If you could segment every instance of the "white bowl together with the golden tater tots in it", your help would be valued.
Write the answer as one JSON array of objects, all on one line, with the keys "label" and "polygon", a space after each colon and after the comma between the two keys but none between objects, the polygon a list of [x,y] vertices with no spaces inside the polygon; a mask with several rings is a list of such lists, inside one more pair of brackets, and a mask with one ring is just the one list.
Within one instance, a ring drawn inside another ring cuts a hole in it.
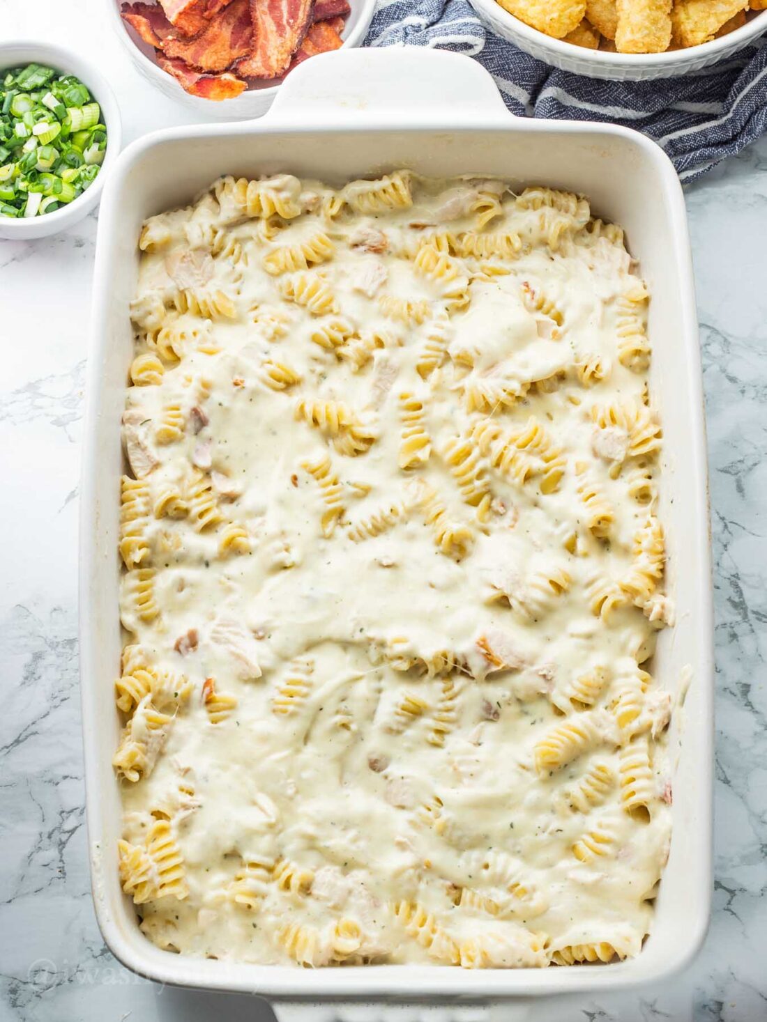
[{"label": "white bowl together with the golden tater tots in it", "polygon": [[672,78],[767,32],[767,0],[469,0],[526,53],[590,78]]}]

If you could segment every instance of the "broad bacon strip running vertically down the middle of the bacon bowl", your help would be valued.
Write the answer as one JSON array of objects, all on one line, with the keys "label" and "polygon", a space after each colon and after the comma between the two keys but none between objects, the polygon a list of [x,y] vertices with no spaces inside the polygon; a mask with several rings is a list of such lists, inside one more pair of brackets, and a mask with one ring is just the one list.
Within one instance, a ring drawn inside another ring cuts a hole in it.
[{"label": "broad bacon strip running vertically down the middle of the bacon bowl", "polygon": [[254,47],[237,64],[244,78],[278,78],[312,21],[314,0],[251,0]]}]

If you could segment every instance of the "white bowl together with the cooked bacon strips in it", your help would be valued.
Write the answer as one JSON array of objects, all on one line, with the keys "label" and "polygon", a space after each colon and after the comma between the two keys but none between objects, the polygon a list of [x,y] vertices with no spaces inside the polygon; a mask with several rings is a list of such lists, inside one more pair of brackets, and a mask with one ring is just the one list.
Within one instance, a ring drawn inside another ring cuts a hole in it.
[{"label": "white bowl together with the cooked bacon strips in it", "polygon": [[359,46],[375,0],[107,0],[137,69],[200,117],[258,118],[286,74]]}]

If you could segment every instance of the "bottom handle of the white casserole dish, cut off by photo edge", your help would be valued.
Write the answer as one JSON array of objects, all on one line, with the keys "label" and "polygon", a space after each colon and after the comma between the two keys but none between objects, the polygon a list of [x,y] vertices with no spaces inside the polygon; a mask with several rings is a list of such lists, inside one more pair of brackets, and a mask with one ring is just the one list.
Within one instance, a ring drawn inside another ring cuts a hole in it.
[{"label": "bottom handle of the white casserole dish, cut off by photo edge", "polygon": [[271,1001],[277,1022],[526,1022],[526,998],[483,1004],[360,1004],[352,1002]]}]

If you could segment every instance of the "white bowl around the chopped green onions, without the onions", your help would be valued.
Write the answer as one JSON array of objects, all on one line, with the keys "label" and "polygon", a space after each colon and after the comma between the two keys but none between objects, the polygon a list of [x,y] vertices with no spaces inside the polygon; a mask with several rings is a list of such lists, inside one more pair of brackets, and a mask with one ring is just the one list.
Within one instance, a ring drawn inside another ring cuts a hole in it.
[{"label": "white bowl around the chopped green onions, without the onions", "polygon": [[53,213],[44,213],[41,217],[30,217],[28,220],[24,217],[16,220],[0,216],[0,238],[17,241],[57,234],[86,217],[98,203],[104,179],[120,153],[120,107],[103,75],[77,53],[62,46],[32,42],[0,43],[0,74],[4,74],[8,67],[24,66],[33,61],[46,67],[54,67],[62,75],[76,75],[88,88],[101,108],[101,121],[106,126],[106,151],[101,170],[93,183],[72,202]]}]

